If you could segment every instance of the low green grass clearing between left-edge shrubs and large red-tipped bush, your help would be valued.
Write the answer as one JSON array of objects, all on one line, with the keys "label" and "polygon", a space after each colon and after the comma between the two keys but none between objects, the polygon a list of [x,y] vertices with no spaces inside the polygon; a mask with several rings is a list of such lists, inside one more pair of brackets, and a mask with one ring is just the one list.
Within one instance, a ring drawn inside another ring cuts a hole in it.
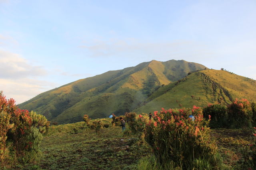
[{"label": "low green grass clearing between left-edge shrubs and large red-tipped bush", "polygon": [[[104,119],[103,124],[110,121]],[[51,126],[42,141],[41,161],[22,169],[133,170],[151,152],[134,136],[123,136],[121,127],[102,128],[98,136],[83,126],[83,122]]]}]

